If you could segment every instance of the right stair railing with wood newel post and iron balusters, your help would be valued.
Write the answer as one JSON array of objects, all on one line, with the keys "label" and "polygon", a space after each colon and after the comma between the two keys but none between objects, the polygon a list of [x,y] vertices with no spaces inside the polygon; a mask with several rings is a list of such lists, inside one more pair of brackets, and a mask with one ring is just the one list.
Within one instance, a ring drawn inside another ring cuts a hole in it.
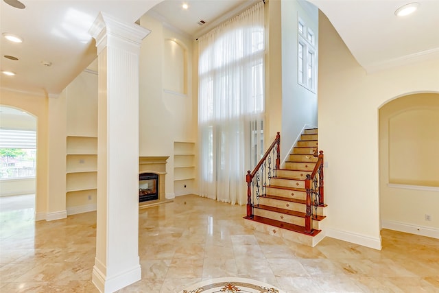
[{"label": "right stair railing with wood newel post and iron balusters", "polygon": [[[314,166],[311,175],[307,174],[305,179],[305,189],[307,189],[306,199],[306,215],[305,215],[305,233],[312,234],[312,218],[317,216],[318,207],[324,207],[324,182],[323,182],[323,151],[321,150],[318,155],[318,161]],[[313,213],[311,204],[314,207]]]}]

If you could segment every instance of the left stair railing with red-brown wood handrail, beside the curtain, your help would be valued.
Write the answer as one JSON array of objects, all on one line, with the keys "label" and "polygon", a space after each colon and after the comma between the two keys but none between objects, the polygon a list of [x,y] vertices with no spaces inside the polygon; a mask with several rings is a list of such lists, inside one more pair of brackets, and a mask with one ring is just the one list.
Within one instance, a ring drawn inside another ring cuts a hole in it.
[{"label": "left stair railing with red-brown wood handrail, beside the curtain", "polygon": [[[274,165],[272,156],[276,157]],[[276,172],[281,165],[281,134],[277,132],[276,138],[265,152],[262,159],[254,167],[253,171],[247,171],[247,215],[246,218],[253,218],[253,201],[252,194],[256,195],[259,204],[259,196],[265,195],[265,186],[270,186],[270,180],[276,176]],[[268,180],[268,183],[267,183]]]}]

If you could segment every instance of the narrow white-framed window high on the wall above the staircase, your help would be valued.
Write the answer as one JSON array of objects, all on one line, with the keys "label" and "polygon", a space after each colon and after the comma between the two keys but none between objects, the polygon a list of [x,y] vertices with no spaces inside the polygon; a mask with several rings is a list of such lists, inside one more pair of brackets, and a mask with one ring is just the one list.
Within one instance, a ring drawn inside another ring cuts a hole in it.
[{"label": "narrow white-framed window high on the wall above the staircase", "polygon": [[316,91],[316,40],[314,32],[302,19],[297,26],[298,35],[298,84]]}]

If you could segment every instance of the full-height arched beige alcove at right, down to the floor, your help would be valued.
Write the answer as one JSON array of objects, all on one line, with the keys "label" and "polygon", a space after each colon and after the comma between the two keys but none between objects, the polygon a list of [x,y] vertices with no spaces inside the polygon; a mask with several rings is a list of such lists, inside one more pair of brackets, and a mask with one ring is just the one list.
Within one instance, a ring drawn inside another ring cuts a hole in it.
[{"label": "full-height arched beige alcove at right, down to the floor", "polygon": [[438,125],[438,93],[406,95],[379,109],[379,191],[384,228],[421,235],[432,235],[435,228],[439,232]]}]

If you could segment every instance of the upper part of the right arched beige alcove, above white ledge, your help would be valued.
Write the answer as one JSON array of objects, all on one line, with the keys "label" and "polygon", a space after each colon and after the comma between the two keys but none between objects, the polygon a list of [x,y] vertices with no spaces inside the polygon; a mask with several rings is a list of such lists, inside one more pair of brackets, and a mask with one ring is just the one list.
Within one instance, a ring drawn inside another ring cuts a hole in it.
[{"label": "upper part of the right arched beige alcove, above white ledge", "polygon": [[379,109],[380,132],[388,145],[388,182],[439,187],[439,93],[412,93]]}]

